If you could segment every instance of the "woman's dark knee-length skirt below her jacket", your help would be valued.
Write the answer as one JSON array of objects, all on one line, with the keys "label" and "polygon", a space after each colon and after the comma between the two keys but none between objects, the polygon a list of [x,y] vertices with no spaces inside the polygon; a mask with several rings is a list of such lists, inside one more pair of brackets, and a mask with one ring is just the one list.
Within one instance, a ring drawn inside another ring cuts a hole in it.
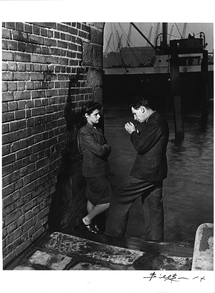
[{"label": "woman's dark knee-length skirt below her jacket", "polygon": [[96,205],[110,202],[112,187],[107,176],[86,178],[86,198]]}]

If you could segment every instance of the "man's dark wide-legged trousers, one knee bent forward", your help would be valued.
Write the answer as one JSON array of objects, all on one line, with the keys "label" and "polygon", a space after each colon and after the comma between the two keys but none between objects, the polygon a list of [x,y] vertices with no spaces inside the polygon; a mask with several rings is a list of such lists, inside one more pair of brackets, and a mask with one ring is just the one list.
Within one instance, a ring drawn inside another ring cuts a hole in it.
[{"label": "man's dark wide-legged trousers, one knee bent forward", "polygon": [[129,209],[141,196],[147,240],[163,240],[163,180],[146,181],[129,176],[113,192],[105,235],[123,236],[128,223]]}]

